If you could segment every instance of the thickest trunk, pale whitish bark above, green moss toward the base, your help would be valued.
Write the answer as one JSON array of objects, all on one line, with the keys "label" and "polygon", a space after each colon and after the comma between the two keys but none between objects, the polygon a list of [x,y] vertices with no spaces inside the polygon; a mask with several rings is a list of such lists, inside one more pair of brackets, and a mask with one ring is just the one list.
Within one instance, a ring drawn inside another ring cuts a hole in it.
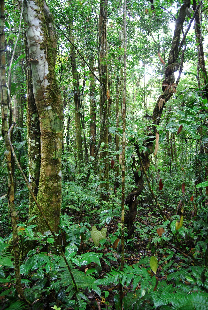
[{"label": "thickest trunk, pale whitish bark above, green moss toward the base", "polygon": [[[58,232],[61,207],[63,105],[55,78],[57,36],[53,16],[44,0],[24,1],[23,5],[33,96],[41,136],[37,200],[52,228]],[[36,115],[33,115],[32,118],[35,117]],[[30,216],[36,214],[40,215],[34,206]],[[48,229],[41,216],[35,221],[41,232]]]}]

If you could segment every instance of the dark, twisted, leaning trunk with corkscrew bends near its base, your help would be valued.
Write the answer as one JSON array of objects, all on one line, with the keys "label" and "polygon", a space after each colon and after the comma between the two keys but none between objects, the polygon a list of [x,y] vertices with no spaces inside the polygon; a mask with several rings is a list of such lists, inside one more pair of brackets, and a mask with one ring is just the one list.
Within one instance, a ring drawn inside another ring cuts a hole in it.
[{"label": "dark, twisted, leaning trunk with corkscrew bends near its base", "polygon": [[[184,0],[183,5],[181,6],[179,10],[179,15],[176,20],[175,24],[175,31],[173,35],[173,40],[172,40],[172,47],[170,49],[169,53],[169,58],[168,58],[168,66],[166,68],[166,81],[169,81],[169,84],[172,85],[174,82],[174,72],[178,70],[179,64],[176,63],[176,60],[179,55],[179,51],[182,48],[182,43],[184,42],[185,36],[181,40],[181,44],[179,46],[179,41],[180,41],[180,35],[182,31],[182,27],[184,24],[184,20],[186,17],[186,11],[187,8],[190,7],[190,0]],[[194,15],[193,15],[194,18]],[[182,70],[182,64],[180,71]],[[170,91],[168,90],[163,90],[163,94],[159,96],[157,103],[155,105],[155,108],[153,110],[153,124],[159,125],[160,118],[162,115],[162,110],[164,108],[164,105],[166,102],[172,97],[173,91],[171,91],[171,86]],[[163,87],[162,87],[163,88]],[[157,132],[157,127],[152,126],[151,130],[156,133]],[[140,152],[139,150],[139,145],[135,143],[135,150],[139,158],[141,158],[142,164],[145,168],[145,170],[148,170],[150,161],[149,161],[149,155],[153,153],[153,139],[149,139],[145,141],[145,146],[148,148],[146,152]],[[135,178],[135,184],[136,187],[131,191],[131,193],[128,194],[126,198],[126,204],[129,205],[129,212],[125,215],[125,223],[127,224],[127,229],[128,229],[128,236],[130,237],[133,232],[134,232],[134,219],[137,214],[137,196],[143,191],[144,189],[144,181],[143,181],[143,168],[142,165],[138,167],[138,169],[134,169],[135,162],[132,165],[132,170]]]}]

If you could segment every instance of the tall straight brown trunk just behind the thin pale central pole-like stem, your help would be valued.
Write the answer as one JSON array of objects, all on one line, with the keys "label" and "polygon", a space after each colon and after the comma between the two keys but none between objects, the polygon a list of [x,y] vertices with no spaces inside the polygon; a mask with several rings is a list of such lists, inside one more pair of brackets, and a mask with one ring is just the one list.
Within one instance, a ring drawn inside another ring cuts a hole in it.
[{"label": "tall straight brown trunk just behind the thin pale central pole-like stem", "polygon": [[[100,135],[102,136],[100,152],[100,179],[105,183],[100,184],[100,188],[109,189],[108,176],[108,55],[107,55],[107,6],[108,0],[100,0],[99,15],[99,73],[100,81]],[[107,195],[101,194],[101,197],[107,199]]]}]

